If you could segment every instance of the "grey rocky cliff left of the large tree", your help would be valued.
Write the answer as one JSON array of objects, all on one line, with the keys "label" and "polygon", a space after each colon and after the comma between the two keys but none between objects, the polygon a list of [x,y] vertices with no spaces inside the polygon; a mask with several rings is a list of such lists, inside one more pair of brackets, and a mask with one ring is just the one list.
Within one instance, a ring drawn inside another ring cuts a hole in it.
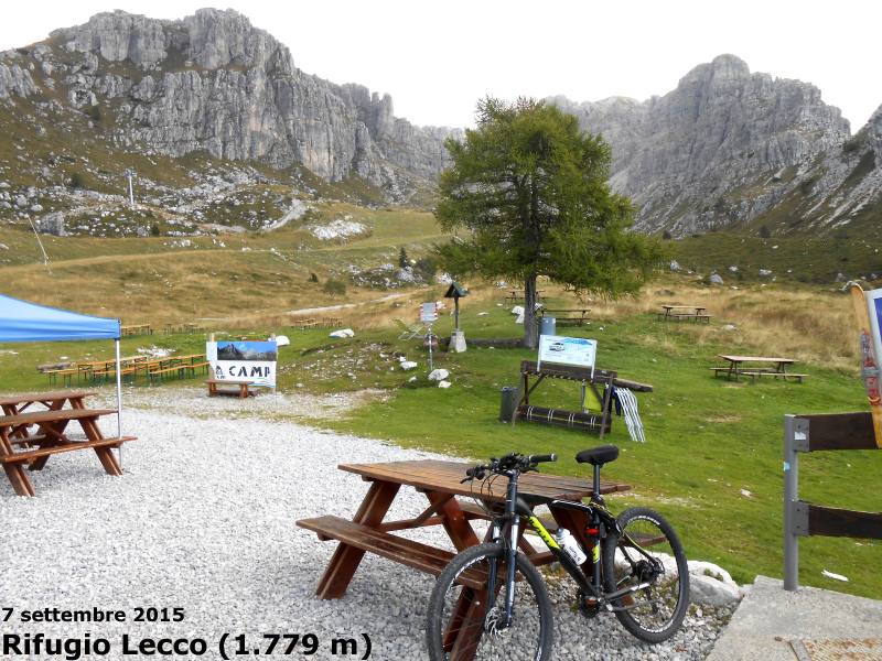
[{"label": "grey rocky cliff left of the large tree", "polygon": [[327,182],[357,174],[391,193],[437,178],[444,138],[461,134],[396,118],[389,95],[304,74],[233,10],[181,21],[101,13],[4,54],[0,100],[41,94],[111,113],[108,140],[120,149],[301,163]]}]

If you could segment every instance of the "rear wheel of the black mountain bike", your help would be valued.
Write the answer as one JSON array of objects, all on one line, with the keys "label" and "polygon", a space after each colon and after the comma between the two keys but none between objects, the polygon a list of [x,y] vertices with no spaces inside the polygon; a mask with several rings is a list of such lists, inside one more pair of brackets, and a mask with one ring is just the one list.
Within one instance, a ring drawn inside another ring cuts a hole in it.
[{"label": "rear wheel of the black mountain bike", "polygon": [[[624,534],[610,531],[603,548],[606,592],[648,584],[612,602],[615,617],[646,642],[667,640],[689,607],[689,568],[677,533],[655,510],[635,507],[619,517]],[[637,549],[639,548],[639,550]],[[641,551],[658,561],[659,570]]]}]

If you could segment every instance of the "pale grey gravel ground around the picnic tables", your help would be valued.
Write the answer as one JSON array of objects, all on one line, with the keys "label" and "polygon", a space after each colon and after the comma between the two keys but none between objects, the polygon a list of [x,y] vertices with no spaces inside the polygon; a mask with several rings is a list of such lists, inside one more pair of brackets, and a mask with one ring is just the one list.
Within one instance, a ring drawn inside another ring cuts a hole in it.
[{"label": "pale grey gravel ground around the picnic tables", "polygon": [[[336,543],[320,542],[295,521],[355,513],[367,485],[337,470],[337,464],[438,455],[266,421],[276,413],[310,414],[310,408],[333,414],[356,405],[358,398],[208,400],[202,392],[147,389],[126,398],[123,433],[138,441],[125,446],[125,476],[106,475],[86,451],[52,457],[44,470],[32,474],[36,498],[14,496],[0,480],[0,554],[6,559],[0,607],[13,609],[4,635],[19,635],[22,646],[37,633],[68,639],[68,644],[106,639],[109,652],[83,655],[90,659],[146,658],[151,654],[139,644],[164,638],[190,641],[193,658],[202,640],[201,655],[217,659],[225,635],[233,658],[238,636],[245,637],[243,651],[266,654],[270,640],[265,635],[311,633],[312,658],[361,659],[366,633],[372,659],[428,659],[424,614],[434,578],[367,554],[344,598],[315,600],[313,589]],[[116,419],[103,426],[106,434],[115,433]],[[424,496],[402,488],[390,516],[413,517],[424,507]],[[441,530],[408,534],[452,550]],[[552,589],[555,658],[702,659],[731,615],[731,609],[693,611],[674,639],[650,647],[611,616],[587,620],[572,613],[573,593],[571,586]],[[118,610],[126,619],[22,621],[25,610],[46,608]],[[159,609],[160,619],[163,613],[171,619],[180,608],[183,619],[136,621],[139,609],[148,608]],[[7,613],[0,610],[0,617]],[[123,636],[133,653],[123,654]],[[335,639],[353,639],[357,654],[340,647],[334,653]],[[273,654],[283,655],[287,644],[282,638]],[[172,655],[185,650],[179,647]],[[293,655],[304,651],[298,646]],[[1,649],[0,657],[65,658]]]}]

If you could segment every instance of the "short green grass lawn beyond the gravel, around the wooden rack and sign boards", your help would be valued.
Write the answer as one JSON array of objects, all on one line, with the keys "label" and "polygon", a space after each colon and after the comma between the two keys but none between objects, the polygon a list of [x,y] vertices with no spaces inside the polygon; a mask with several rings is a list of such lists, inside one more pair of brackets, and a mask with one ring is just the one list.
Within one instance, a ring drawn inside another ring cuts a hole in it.
[{"label": "short green grass lawn beyond the gravel, around the wooden rack and sign boards", "polygon": [[[685,281],[671,279],[656,286],[676,286],[681,296],[695,300],[698,290],[684,289]],[[370,310],[385,319],[384,324],[366,324],[352,339],[330,339],[327,330],[262,328],[283,330],[292,339],[291,347],[280,351],[280,390],[295,392],[297,383],[315,392],[381,388],[390,394],[384,401],[357,410],[347,420],[320,424],[475,459],[512,449],[557,452],[561,460],[549,472],[587,476],[572,457],[579,449],[596,445],[595,435],[527,423],[512,429],[496,420],[499,388],[517,384],[519,361],[534,353],[471,348],[461,355],[435,354],[434,366],[451,370],[453,387],[442,390],[428,382],[428,355],[417,342],[397,340],[390,318],[411,318],[416,304],[437,297],[440,290],[410,293],[410,301],[400,308],[392,302],[375,304]],[[720,293],[710,290],[707,295],[719,297]],[[765,297],[775,307],[790,293],[756,288],[752,295]],[[843,305],[842,296],[815,295],[825,308]],[[502,291],[494,288],[484,292],[475,289],[463,300],[462,327],[467,337],[521,333],[497,302],[502,302]],[[572,301],[552,300],[549,306],[552,303],[564,306]],[[714,356],[719,353],[752,348],[750,334],[723,329],[725,324],[746,323],[747,307],[725,307],[738,312],[718,315],[708,329],[658,322],[647,311],[648,304],[643,308],[593,305],[598,315],[592,325],[566,333],[598,338],[600,367],[655,387],[654,393],[638,394],[648,442],[631,442],[621,419],[614,421],[613,433],[604,438],[623,448],[604,476],[634,486],[632,491],[612,498],[613,508],[658,508],[674,522],[690,557],[717,562],[739,582],[749,582],[756,574],[781,576],[783,415],[865,409],[862,386],[852,373],[856,370],[832,370],[822,360],[815,360],[799,366],[800,372],[809,375],[803,384],[774,380],[736,384],[714,379],[707,368],[718,364]],[[346,311],[344,316],[357,327],[359,314]],[[447,335],[452,325],[451,317],[442,316],[437,325],[439,335]],[[151,343],[190,353],[204,346],[204,337],[127,338],[122,351],[131,354]],[[8,391],[46,388],[45,377],[33,370],[40,362],[61,356],[104,357],[111,353],[108,343],[7,345],[3,349],[18,351],[2,355],[3,390]],[[401,353],[419,362],[415,372],[397,367],[397,354]],[[363,360],[361,365],[358,359]],[[410,382],[415,373],[418,379]],[[181,384],[164,386],[176,387]],[[544,384],[536,392],[535,403],[576,408],[578,388],[561,382]],[[878,511],[878,489],[868,485],[878,484],[880,469],[880,453],[809,456],[802,464],[800,496],[833,507]],[[875,567],[882,562],[882,543],[811,538],[802,540],[800,546],[800,583],[870,597],[879,594],[882,579]],[[825,578],[822,570],[845,574],[850,583]]]}]

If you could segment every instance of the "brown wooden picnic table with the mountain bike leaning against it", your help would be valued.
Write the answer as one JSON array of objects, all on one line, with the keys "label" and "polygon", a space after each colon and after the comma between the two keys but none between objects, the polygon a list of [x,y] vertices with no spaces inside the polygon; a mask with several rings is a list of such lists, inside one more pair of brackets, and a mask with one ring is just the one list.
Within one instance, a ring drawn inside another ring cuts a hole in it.
[{"label": "brown wooden picnic table with the mountain bike leaning against it", "polygon": [[[322,541],[340,541],[319,581],[315,595],[322,599],[341,598],[366,552],[376,553],[434,576],[438,576],[454,556],[450,551],[391,534],[396,530],[442,525],[458,552],[480,543],[481,540],[470,521],[488,520],[490,517],[483,507],[471,499],[481,498],[485,507],[491,508],[501,499],[504,501],[508,483],[507,480],[497,480],[494,485],[484,483],[483,491],[480,484],[475,484],[473,490],[471,486],[473,483],[461,484],[466,468],[471,466],[471,464],[438,459],[340,465],[341,470],[361,475],[362,479],[370,481],[372,485],[352,521],[326,514],[297,522],[301,528],[318,533]],[[427,509],[413,519],[384,521],[402,485],[426,494],[429,500]],[[630,488],[631,486],[626,484],[601,483],[601,494],[625,491]],[[520,476],[518,494],[530,506],[537,503],[537,498],[581,501],[591,496],[592,484],[588,479],[576,477],[529,473]],[[458,496],[465,500],[459,500]],[[590,548],[583,534],[588,521],[582,512],[555,507],[550,507],[550,510],[553,520],[540,517],[550,532],[553,533],[558,525],[563,525],[579,539],[583,548]],[[521,527],[521,534],[523,531]],[[518,545],[535,565],[555,561],[549,551],[537,551],[523,537]]]}]

